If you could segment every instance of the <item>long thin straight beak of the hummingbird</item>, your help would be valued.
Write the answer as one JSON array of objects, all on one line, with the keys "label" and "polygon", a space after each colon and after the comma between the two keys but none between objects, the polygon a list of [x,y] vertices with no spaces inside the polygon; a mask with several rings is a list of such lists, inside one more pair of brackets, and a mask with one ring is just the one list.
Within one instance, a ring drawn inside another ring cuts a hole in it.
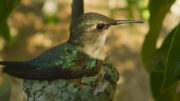
[{"label": "long thin straight beak of the hummingbird", "polygon": [[111,25],[119,25],[124,23],[144,23],[142,21],[135,21],[135,20],[115,20]]}]

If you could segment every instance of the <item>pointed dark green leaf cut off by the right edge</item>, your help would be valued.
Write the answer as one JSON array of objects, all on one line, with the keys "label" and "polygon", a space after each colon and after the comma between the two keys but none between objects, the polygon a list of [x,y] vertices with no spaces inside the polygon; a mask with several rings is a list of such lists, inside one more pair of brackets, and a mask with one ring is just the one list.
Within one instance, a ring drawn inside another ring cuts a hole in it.
[{"label": "pointed dark green leaf cut off by the right edge", "polygon": [[168,54],[162,91],[166,91],[180,78],[180,24],[174,33]]}]

